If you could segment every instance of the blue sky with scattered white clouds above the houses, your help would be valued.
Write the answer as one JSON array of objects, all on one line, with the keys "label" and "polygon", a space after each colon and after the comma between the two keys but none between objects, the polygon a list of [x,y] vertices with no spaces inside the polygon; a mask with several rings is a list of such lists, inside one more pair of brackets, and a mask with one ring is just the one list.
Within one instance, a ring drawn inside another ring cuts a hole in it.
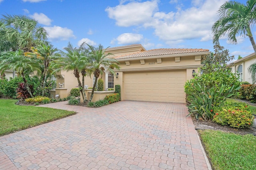
[{"label": "blue sky with scattered white clouds above the houses", "polygon": [[[104,47],[134,43],[146,49],[202,48],[214,51],[211,27],[226,0],[0,0],[1,15],[26,15],[38,20],[48,41],[62,49],[68,42]],[[246,0],[236,0],[246,3]],[[2,18],[2,16],[0,16]],[[256,29],[252,29],[254,38]],[[254,52],[249,38],[220,45],[230,55]]]}]

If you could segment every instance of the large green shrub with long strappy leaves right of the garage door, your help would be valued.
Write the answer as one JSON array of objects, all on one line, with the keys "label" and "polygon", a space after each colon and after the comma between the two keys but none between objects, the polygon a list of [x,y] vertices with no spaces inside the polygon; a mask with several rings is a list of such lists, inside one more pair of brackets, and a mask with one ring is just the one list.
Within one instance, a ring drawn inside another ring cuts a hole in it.
[{"label": "large green shrub with long strappy leaves right of the garage door", "polygon": [[[218,66],[212,65],[218,68]],[[240,88],[240,82],[229,68],[221,68],[210,73],[195,75],[185,83],[186,102],[190,114],[198,114],[205,120],[214,116],[213,108],[222,106],[233,90]],[[189,115],[190,115],[189,114]]]}]

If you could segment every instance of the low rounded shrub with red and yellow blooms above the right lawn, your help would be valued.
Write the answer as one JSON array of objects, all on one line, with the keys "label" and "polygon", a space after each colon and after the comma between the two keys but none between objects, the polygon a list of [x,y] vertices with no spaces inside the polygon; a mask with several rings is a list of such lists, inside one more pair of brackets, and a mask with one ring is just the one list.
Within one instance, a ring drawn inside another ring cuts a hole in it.
[{"label": "low rounded shrub with red and yellow blooms above the right lawn", "polygon": [[[214,117],[212,121],[221,125],[229,125],[234,128],[250,127],[254,116],[252,111],[244,107],[224,106],[214,108]],[[247,106],[248,107],[248,106]]]}]

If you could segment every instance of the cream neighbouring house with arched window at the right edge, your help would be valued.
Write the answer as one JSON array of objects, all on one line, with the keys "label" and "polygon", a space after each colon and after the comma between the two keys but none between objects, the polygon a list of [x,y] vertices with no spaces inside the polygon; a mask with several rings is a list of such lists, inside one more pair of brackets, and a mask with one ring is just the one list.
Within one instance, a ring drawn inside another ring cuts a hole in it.
[{"label": "cream neighbouring house with arched window at the right edge", "polygon": [[246,57],[234,61],[230,65],[232,65],[233,73],[237,73],[240,81],[248,81],[252,84],[252,78],[250,73],[248,72],[248,67],[250,67],[250,65],[255,62],[256,54],[252,53],[250,55],[247,55]]}]

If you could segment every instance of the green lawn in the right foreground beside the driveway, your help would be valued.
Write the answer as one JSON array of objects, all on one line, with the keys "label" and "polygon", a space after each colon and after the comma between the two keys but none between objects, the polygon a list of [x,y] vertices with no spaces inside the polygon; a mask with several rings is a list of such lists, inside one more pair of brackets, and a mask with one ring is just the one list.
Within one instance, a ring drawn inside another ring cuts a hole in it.
[{"label": "green lawn in the right foreground beside the driveway", "polygon": [[255,170],[256,136],[199,130],[214,170]]}]

